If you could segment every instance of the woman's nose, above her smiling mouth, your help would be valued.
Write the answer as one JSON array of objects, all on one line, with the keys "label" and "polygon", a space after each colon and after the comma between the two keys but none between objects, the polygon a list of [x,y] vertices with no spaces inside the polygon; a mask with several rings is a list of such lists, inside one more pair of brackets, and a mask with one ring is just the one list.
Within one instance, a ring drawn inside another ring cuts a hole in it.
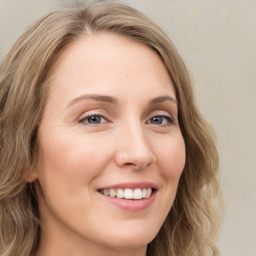
[{"label": "woman's nose, above her smiling mouth", "polygon": [[134,169],[143,169],[156,162],[149,138],[141,127],[126,127],[117,143],[115,162],[119,167],[131,166]]}]

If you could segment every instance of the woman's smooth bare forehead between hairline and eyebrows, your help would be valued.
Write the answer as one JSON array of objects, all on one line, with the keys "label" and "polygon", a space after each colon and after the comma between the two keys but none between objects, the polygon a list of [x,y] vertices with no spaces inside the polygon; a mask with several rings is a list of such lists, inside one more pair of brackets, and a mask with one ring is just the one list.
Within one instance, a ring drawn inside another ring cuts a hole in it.
[{"label": "woman's smooth bare forehead between hairline and eyebrows", "polygon": [[[108,94],[144,89],[166,94],[175,91],[161,58],[149,46],[114,34],[95,34],[65,47],[50,72],[50,91]],[[138,92],[139,92],[138,91]]]}]

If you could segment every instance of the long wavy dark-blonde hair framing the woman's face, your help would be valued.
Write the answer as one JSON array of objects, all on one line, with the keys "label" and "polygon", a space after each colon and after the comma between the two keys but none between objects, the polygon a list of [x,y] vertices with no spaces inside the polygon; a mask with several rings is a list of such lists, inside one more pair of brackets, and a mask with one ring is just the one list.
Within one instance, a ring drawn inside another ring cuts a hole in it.
[{"label": "long wavy dark-blonde hair framing the woman's face", "polygon": [[32,255],[39,240],[34,186],[24,176],[38,163],[36,133],[49,70],[63,47],[98,32],[126,36],[157,52],[179,102],[185,167],[168,216],[147,246],[147,256],[218,255],[218,154],[213,132],[196,106],[189,72],[171,40],[153,21],[112,1],[52,11],[26,29],[0,64],[1,255]]}]

